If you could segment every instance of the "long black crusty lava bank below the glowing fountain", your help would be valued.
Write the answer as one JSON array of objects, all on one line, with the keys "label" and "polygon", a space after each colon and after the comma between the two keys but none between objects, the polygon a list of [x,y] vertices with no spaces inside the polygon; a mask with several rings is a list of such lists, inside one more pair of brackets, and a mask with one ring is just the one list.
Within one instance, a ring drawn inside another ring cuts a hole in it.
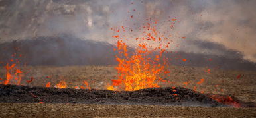
[{"label": "long black crusty lava bank below the glowing fountain", "polygon": [[204,94],[186,88],[147,88],[137,91],[76,90],[0,85],[4,103],[86,103],[132,105],[222,106]]}]

